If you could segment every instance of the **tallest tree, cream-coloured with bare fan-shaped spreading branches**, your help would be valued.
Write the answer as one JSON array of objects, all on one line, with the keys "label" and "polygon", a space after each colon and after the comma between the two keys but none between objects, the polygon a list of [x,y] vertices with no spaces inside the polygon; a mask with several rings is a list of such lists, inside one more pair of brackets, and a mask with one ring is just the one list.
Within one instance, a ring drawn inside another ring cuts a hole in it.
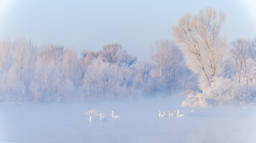
[{"label": "tallest tree, cream-coloured with bare fan-shaped spreading branches", "polygon": [[228,51],[227,40],[221,36],[225,20],[224,12],[207,7],[194,16],[184,14],[172,26],[172,35],[183,48],[189,68],[204,75],[209,85],[223,67],[221,62]]}]

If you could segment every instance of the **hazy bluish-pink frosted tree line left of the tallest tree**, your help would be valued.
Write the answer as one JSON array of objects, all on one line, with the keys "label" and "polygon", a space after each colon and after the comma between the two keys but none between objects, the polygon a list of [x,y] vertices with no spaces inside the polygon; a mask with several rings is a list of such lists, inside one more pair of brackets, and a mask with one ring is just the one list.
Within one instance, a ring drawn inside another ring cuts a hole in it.
[{"label": "hazy bluish-pink frosted tree line left of the tallest tree", "polygon": [[[21,36],[0,39],[0,101],[69,102],[136,98],[182,88],[186,69],[174,41],[160,39],[151,47],[153,62],[139,62],[121,44],[83,50],[52,43],[36,45]],[[189,76],[189,75],[188,75]]]}]

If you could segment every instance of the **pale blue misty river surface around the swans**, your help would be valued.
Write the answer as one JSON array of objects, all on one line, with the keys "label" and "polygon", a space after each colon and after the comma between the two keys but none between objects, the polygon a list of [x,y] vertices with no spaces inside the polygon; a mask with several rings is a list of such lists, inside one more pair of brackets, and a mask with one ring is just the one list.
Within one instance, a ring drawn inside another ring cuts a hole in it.
[{"label": "pale blue misty river surface around the swans", "polygon": [[[89,121],[92,109],[121,118]],[[179,109],[185,117],[159,117]],[[0,105],[3,143],[256,143],[256,108],[180,107],[180,101]]]}]

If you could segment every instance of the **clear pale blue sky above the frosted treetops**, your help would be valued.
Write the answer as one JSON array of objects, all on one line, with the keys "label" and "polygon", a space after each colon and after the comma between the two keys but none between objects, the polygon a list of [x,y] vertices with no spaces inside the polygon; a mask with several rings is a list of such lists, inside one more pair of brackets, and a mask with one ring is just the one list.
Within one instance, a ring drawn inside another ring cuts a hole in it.
[{"label": "clear pale blue sky above the frosted treetops", "polygon": [[0,0],[0,37],[75,46],[79,55],[117,42],[148,60],[156,38],[173,39],[171,27],[182,14],[207,6],[227,14],[228,39],[256,35],[255,0]]}]

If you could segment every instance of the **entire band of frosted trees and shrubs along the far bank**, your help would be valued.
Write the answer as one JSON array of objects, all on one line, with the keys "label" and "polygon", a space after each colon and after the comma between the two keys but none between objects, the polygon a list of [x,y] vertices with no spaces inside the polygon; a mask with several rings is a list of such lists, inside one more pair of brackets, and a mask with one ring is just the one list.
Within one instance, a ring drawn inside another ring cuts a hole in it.
[{"label": "entire band of frosted trees and shrubs along the far bank", "polygon": [[102,50],[0,39],[0,102],[69,102],[169,96],[186,88],[183,107],[256,102],[256,37],[228,41],[223,11],[202,8],[172,25],[175,39],[156,39],[151,60],[138,61],[119,43]]}]

